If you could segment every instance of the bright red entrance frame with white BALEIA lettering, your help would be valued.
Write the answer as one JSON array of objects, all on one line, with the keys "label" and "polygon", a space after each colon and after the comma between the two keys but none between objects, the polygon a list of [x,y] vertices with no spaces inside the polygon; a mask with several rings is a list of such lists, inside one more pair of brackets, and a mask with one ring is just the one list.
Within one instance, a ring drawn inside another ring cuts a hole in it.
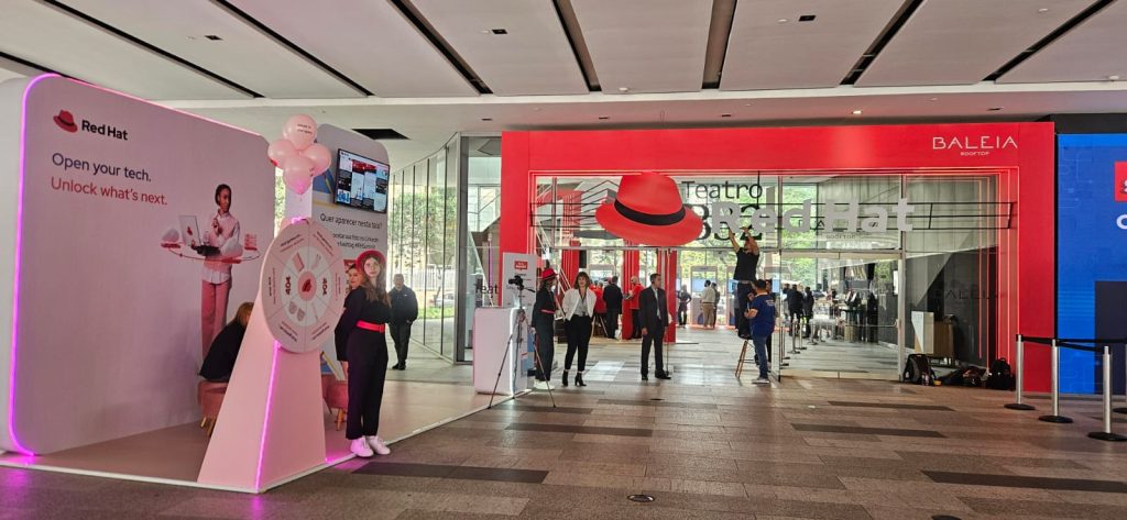
[{"label": "bright red entrance frame with white BALEIA lettering", "polygon": [[[1054,153],[1051,123],[506,132],[500,250],[532,251],[529,203],[540,176],[995,174],[997,199],[1017,203],[999,244],[996,339],[1013,360],[1019,331],[1054,331]],[[1031,349],[1026,361],[1029,389],[1046,391],[1048,352]]]}]

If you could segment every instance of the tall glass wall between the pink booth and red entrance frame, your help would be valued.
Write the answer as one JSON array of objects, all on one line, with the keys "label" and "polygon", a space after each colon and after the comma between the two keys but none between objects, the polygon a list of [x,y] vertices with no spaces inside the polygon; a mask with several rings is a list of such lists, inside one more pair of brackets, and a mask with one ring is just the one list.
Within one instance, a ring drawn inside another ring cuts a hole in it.
[{"label": "tall glass wall between the pink booth and red entrance frame", "polygon": [[498,305],[500,137],[461,136],[391,173],[389,262],[419,299],[411,341],[472,359],[473,310]]}]

